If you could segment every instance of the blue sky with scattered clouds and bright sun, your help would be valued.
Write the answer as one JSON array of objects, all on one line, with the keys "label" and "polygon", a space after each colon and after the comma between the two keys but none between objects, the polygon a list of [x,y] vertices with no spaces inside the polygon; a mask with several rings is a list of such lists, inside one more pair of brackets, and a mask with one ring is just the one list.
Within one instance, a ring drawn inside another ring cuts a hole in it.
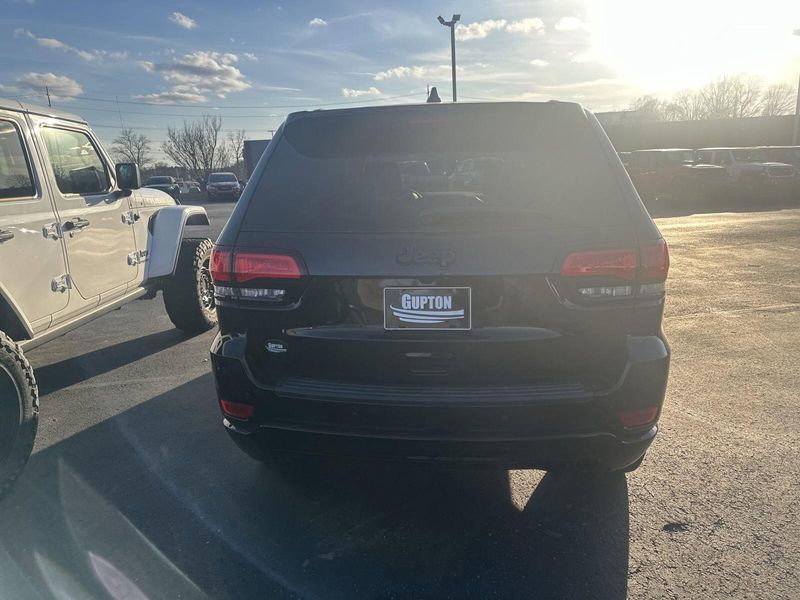
[{"label": "blue sky with scattered clouds and bright sun", "polygon": [[269,137],[296,110],[450,98],[624,109],[736,73],[794,83],[800,0],[0,0],[0,96],[158,145],[216,114]]}]

